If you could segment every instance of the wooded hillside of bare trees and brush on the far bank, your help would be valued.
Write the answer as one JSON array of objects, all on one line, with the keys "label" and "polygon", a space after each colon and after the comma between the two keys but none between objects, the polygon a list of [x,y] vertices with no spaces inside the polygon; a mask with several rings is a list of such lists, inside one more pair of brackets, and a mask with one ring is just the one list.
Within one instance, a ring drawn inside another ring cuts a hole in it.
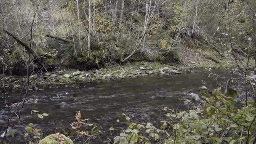
[{"label": "wooded hillside of bare trees and brush on the far bank", "polygon": [[186,63],[193,49],[215,62],[243,60],[254,51],[255,8],[254,0],[0,0],[0,67],[24,75],[29,57],[33,70]]}]

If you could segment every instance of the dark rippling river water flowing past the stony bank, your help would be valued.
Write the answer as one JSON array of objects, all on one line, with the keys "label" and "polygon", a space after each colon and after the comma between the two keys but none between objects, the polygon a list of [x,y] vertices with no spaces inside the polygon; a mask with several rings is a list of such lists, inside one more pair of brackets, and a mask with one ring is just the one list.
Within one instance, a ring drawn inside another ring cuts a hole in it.
[{"label": "dark rippling river water flowing past the stony bank", "polygon": [[[210,73],[216,75],[209,75]],[[111,126],[126,128],[127,124],[131,123],[116,122],[117,119],[122,119],[122,113],[131,117],[134,122],[157,123],[161,119],[161,109],[176,108],[181,103],[179,98],[188,97],[191,92],[197,93],[202,85],[214,88],[216,77],[219,82],[223,82],[226,76],[229,77],[227,69],[206,69],[183,72],[181,75],[152,75],[89,83],[80,85],[79,88],[45,88],[42,91],[30,91],[22,113],[21,125],[38,124],[44,136],[62,129],[69,133],[70,124],[75,121],[74,116],[78,111],[105,131]],[[35,99],[39,101],[37,104],[34,103]],[[3,101],[0,106],[0,119],[8,115],[8,109],[2,104]],[[31,115],[31,110],[38,110],[40,114],[45,112],[49,116],[41,120],[37,115]],[[0,128],[2,126],[3,124]],[[105,138],[109,134],[107,132]],[[103,142],[99,140],[95,143]]]}]

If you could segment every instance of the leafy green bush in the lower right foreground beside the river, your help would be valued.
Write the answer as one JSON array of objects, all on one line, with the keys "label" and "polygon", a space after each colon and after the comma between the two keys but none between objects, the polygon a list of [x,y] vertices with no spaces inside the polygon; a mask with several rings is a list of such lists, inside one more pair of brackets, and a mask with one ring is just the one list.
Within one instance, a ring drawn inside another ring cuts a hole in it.
[{"label": "leafy green bush in the lower right foreground beside the river", "polygon": [[[203,96],[204,97],[204,96]],[[242,143],[252,144],[256,131],[256,108],[252,105],[237,109],[237,101],[225,97],[219,90],[213,96],[204,97],[203,109],[191,109],[176,115],[165,115],[171,124],[173,134],[166,143],[203,144],[208,143]],[[165,109],[169,113],[174,111]],[[165,127],[163,127],[165,128]]]}]

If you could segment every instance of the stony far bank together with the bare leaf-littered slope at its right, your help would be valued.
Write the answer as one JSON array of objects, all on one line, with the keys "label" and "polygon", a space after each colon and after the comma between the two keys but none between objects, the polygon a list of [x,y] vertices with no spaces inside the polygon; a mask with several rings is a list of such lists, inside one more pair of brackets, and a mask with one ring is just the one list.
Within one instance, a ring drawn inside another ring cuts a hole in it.
[{"label": "stony far bank together with the bare leaf-littered slope at its right", "polygon": [[[37,72],[30,76],[30,89],[44,87],[78,87],[79,84],[99,82],[105,80],[124,79],[129,77],[143,77],[147,75],[176,75],[183,71],[193,72],[195,69],[210,69],[219,67],[235,67],[231,56],[218,59],[213,50],[181,48],[181,61],[173,64],[157,62],[127,62],[125,64],[106,64],[104,68],[89,71],[77,69],[62,69],[52,72]],[[210,56],[210,59],[209,59]],[[214,60],[211,60],[213,58]],[[27,77],[1,76],[4,88],[11,91],[20,91],[27,81]],[[0,85],[3,88],[3,85]]]}]

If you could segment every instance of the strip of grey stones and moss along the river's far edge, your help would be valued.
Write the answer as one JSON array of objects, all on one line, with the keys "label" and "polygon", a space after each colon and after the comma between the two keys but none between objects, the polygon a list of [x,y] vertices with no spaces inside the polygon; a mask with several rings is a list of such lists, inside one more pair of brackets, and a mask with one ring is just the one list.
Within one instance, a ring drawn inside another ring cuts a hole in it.
[{"label": "strip of grey stones and moss along the river's far edge", "polygon": [[[209,66],[209,64],[197,64],[199,68]],[[215,65],[214,67],[219,67]],[[195,67],[194,67],[195,68]],[[170,64],[137,62],[125,65],[109,66],[107,68],[89,71],[79,71],[76,69],[62,69],[52,72],[38,72],[30,76],[30,89],[38,90],[44,87],[77,87],[79,84],[99,82],[104,80],[116,80],[129,77],[143,77],[146,75],[177,75],[192,67],[176,67]],[[27,85],[27,77],[15,77],[2,75],[1,87],[11,91],[19,91]]]}]

